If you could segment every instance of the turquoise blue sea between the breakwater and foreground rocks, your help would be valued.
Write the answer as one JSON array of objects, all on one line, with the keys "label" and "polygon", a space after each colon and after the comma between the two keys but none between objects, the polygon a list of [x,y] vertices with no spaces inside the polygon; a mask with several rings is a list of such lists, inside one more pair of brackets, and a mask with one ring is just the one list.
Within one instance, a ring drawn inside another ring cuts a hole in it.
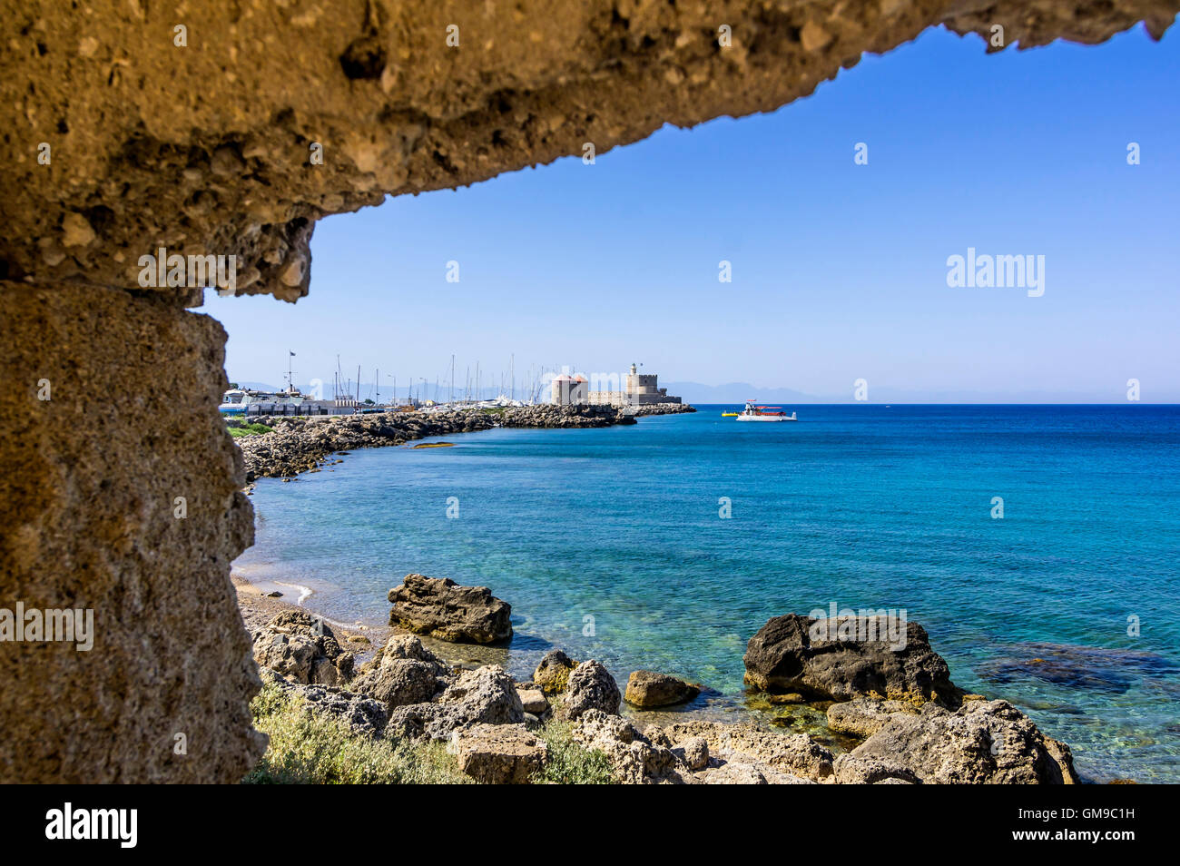
[{"label": "turquoise blue sea between the breakwater and foreground rocks", "polygon": [[556,645],[621,682],[697,680],[696,708],[726,711],[759,711],[741,656],[767,618],[904,609],[956,683],[1024,709],[1083,776],[1180,781],[1180,407],[699,408],[263,479],[235,565],[346,623],[385,622],[407,572],[487,585],[513,674]]}]

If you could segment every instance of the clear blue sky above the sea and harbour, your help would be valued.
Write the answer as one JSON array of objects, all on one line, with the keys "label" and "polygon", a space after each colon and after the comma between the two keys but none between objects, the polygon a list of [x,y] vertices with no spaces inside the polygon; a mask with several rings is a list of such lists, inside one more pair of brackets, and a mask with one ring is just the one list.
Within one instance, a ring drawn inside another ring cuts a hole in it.
[{"label": "clear blue sky above the sea and harbour", "polygon": [[[1178,401],[1178,31],[992,55],[927,31],[769,114],[321,221],[308,297],[208,291],[202,310],[230,380],[275,385],[288,349],[299,385],[330,382],[339,353],[399,389],[452,353],[459,380],[514,353],[518,378],[635,360],[841,399],[864,378],[871,396],[1082,401],[1136,378]],[[1044,295],[948,288],[969,247],[1045,256]]]}]

